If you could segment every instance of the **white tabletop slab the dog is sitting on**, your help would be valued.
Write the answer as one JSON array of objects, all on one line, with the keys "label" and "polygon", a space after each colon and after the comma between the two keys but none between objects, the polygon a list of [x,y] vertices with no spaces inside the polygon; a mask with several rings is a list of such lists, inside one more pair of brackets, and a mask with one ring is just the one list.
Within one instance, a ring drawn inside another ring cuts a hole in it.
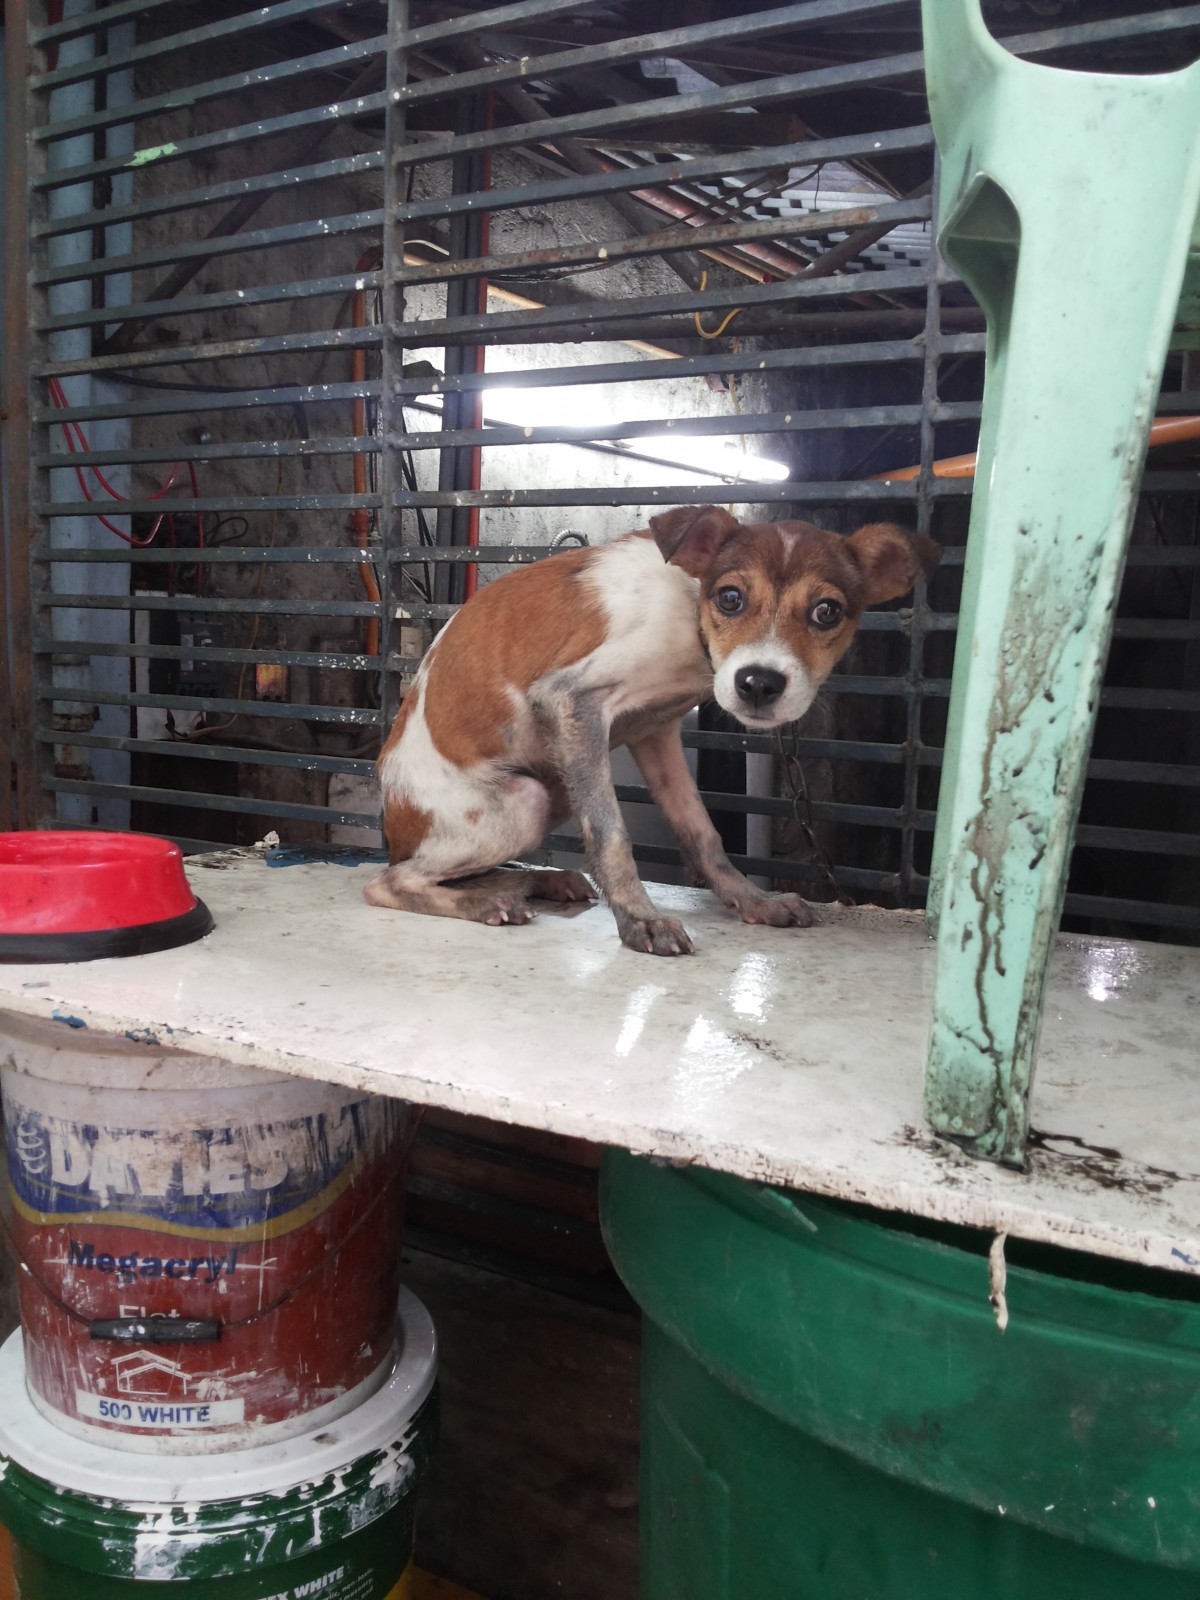
[{"label": "white tabletop slab the dog is sitting on", "polygon": [[213,934],[0,965],[0,1010],[1200,1274],[1200,950],[1058,941],[1014,1173],[925,1126],[917,914],[746,928],[659,886],[698,946],[666,960],[624,950],[603,907],[525,928],[378,910],[373,870],[194,858]]}]

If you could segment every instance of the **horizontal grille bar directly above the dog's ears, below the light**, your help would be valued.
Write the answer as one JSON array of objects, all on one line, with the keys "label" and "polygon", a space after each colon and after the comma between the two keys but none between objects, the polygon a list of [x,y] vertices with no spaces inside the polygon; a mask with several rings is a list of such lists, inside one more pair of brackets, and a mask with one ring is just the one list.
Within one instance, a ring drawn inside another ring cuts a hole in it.
[{"label": "horizontal grille bar directly above the dog's ears, below the light", "polygon": [[718,483],[693,488],[691,485],[664,485],[662,488],[618,490],[397,490],[392,504],[406,506],[752,506],[757,501],[774,504],[851,504],[861,501],[901,504],[917,499],[912,483],[874,483],[854,480],[845,483]]}]

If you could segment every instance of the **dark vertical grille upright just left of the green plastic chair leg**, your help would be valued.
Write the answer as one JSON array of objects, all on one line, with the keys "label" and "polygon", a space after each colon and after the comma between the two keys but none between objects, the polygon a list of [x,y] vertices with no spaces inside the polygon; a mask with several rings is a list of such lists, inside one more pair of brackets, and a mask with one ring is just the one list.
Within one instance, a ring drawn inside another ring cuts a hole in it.
[{"label": "dark vertical grille upright just left of the green plastic chair leg", "polygon": [[[941,163],[933,157],[933,214],[938,216],[938,187]],[[930,240],[925,282],[925,362],[922,366],[922,424],[920,424],[920,474],[917,477],[917,531],[926,538],[933,526],[933,462],[936,459],[934,408],[938,405],[938,366],[941,362],[942,331],[942,258],[936,237]],[[914,899],[914,850],[917,843],[917,810],[922,750],[922,680],[925,677],[925,638],[928,634],[928,586],[917,578],[912,590],[912,626],[909,629],[909,683],[906,693],[907,720],[904,728],[904,802],[901,824],[901,906]]]}]

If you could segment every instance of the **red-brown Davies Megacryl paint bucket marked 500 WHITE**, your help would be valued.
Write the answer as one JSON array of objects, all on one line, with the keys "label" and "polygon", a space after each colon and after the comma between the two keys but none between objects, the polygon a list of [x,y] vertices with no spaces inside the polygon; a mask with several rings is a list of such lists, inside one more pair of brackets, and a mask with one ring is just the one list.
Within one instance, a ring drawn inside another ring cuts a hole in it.
[{"label": "red-brown Davies Megacryl paint bucket marked 500 WHITE", "polygon": [[0,1013],[29,1390],[123,1450],[242,1450],[386,1378],[403,1102]]}]

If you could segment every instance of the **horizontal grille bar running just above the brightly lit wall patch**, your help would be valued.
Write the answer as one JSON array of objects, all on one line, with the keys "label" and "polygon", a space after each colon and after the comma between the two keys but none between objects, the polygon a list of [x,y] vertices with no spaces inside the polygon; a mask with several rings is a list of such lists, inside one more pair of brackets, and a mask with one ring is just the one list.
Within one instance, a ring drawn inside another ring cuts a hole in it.
[{"label": "horizontal grille bar running just above the brightly lit wall patch", "polygon": [[[654,317],[662,312],[728,310],[741,306],[786,306],[792,301],[821,299],[845,294],[885,294],[898,290],[923,290],[923,267],[885,267],[880,272],[851,274],[827,278],[786,278],[782,283],[749,283],[720,290],[683,290],[672,294],[642,294],[627,299],[590,301],[587,315],[594,322],[610,317]],[[438,317],[422,322],[392,323],[389,333],[410,344],[437,344],[442,334],[469,333],[483,322],[488,328],[518,333],[522,328],[570,328],[579,317],[578,306],[539,306],[536,310],[475,312],[469,317]]]}]

